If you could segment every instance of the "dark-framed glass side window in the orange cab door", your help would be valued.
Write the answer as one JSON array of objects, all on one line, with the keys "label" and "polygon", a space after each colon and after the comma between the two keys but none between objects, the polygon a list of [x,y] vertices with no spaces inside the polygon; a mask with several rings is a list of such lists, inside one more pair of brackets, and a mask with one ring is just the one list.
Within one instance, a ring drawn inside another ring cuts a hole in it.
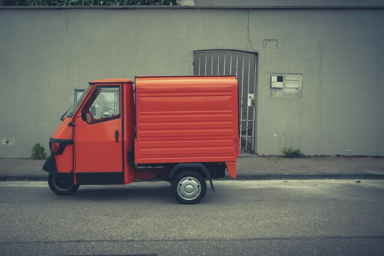
[{"label": "dark-framed glass side window in the orange cab door", "polygon": [[119,86],[98,86],[93,95],[94,100],[85,108],[88,124],[120,118]]}]

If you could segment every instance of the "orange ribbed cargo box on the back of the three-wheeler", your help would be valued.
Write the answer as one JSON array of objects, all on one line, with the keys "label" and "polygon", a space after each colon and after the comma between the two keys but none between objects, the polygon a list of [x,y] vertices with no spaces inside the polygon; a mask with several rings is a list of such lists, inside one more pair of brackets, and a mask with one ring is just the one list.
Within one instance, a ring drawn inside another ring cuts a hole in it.
[{"label": "orange ribbed cargo box on the back of the three-wheeler", "polygon": [[136,77],[135,88],[136,164],[236,161],[236,77]]}]

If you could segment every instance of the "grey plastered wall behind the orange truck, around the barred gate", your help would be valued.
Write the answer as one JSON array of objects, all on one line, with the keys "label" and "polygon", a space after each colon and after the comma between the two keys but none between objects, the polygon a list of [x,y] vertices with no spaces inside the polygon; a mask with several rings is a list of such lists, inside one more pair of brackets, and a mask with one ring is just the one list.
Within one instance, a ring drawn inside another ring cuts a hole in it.
[{"label": "grey plastered wall behind the orange truck, around the barred gate", "polygon": [[[384,155],[383,9],[0,9],[0,24],[0,157],[48,150],[88,81],[192,75],[207,49],[258,52],[258,154],[288,139],[308,155]],[[302,74],[303,98],[269,97],[269,73]]]}]

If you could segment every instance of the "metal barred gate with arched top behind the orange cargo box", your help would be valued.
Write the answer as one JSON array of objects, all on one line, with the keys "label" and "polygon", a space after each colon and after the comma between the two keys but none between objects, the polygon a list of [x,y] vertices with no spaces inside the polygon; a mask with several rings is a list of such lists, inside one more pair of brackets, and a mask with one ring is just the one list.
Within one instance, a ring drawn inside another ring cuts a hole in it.
[{"label": "metal barred gate with arched top behind the orange cargo box", "polygon": [[255,151],[256,55],[242,51],[194,51],[193,75],[234,75],[239,86],[241,152]]}]

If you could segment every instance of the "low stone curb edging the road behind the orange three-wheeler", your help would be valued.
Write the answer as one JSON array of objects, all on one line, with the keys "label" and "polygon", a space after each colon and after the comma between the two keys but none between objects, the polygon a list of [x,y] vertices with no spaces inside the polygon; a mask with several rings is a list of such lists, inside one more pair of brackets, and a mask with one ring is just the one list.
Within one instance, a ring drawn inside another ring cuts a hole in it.
[{"label": "low stone curb edging the road behind the orange three-wheeler", "polygon": [[[257,173],[238,174],[236,179],[226,176],[218,180],[279,180],[279,179],[384,179],[378,173]],[[213,179],[216,180],[216,179]],[[0,181],[48,181],[48,174],[0,175]]]}]

